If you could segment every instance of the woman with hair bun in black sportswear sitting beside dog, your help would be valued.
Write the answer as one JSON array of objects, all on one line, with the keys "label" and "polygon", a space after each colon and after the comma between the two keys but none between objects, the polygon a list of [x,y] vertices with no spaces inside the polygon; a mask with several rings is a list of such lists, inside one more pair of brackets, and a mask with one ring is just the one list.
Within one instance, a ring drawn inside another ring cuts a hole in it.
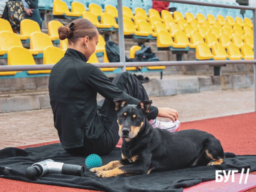
[{"label": "woman with hair bun in black sportswear sitting beside dog", "polygon": [[[76,19],[58,28],[59,38],[68,38],[68,49],[54,65],[49,77],[49,96],[54,126],[62,147],[70,153],[99,155],[110,153],[119,141],[114,98],[137,105],[148,95],[131,73],[119,73],[111,82],[93,64],[87,63],[95,52],[99,32],[89,20]],[[105,97],[101,108],[97,93]],[[148,120],[153,127],[177,131],[177,111],[151,106]],[[170,118],[162,122],[157,116]]]}]

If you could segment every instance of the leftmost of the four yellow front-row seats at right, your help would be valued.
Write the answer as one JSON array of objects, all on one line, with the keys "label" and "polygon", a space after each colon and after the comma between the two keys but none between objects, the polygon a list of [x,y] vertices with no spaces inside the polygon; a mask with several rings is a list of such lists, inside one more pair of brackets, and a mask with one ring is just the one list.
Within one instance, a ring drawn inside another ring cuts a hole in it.
[{"label": "leftmost of the four yellow front-row seats at right", "polygon": [[206,43],[201,41],[196,43],[195,58],[197,60],[212,60],[214,57],[215,56],[212,55],[212,52]]}]

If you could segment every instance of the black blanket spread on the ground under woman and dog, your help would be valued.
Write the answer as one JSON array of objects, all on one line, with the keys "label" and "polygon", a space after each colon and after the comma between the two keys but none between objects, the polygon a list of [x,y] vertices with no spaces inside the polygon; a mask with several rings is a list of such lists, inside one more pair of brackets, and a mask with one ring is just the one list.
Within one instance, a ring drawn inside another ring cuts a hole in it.
[{"label": "black blanket spread on the ground under woman and dog", "polygon": [[[103,165],[121,158],[120,148],[101,156]],[[52,174],[32,180],[25,177],[25,170],[33,163],[52,159],[57,162],[84,165],[85,157],[68,154],[60,143],[35,148],[4,148],[0,150],[0,177],[47,185],[67,186],[105,192],[182,192],[183,188],[215,180],[215,170],[250,168],[256,171],[256,156],[243,155],[226,158],[225,165],[201,166],[166,172],[151,172],[149,175],[98,178],[86,172],[83,177]]]}]

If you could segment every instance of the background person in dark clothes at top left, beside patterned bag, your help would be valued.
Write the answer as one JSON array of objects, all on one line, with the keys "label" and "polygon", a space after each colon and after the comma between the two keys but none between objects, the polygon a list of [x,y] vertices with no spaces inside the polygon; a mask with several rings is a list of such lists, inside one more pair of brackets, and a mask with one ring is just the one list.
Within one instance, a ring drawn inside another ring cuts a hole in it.
[{"label": "background person in dark clothes at top left, beside patterned bag", "polygon": [[22,0],[23,6],[26,11],[26,19],[36,21],[42,29],[42,19],[38,10],[38,0]]}]

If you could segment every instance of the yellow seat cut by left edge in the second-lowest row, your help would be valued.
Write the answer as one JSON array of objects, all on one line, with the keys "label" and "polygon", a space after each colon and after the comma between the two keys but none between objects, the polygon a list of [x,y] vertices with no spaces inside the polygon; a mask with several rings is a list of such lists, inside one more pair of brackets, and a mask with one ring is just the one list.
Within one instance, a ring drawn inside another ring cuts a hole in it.
[{"label": "yellow seat cut by left edge in the second-lowest row", "polygon": [[[11,47],[23,47],[20,38],[14,32],[0,32],[0,55],[7,54]],[[29,50],[33,55],[38,55],[38,51]]]}]

